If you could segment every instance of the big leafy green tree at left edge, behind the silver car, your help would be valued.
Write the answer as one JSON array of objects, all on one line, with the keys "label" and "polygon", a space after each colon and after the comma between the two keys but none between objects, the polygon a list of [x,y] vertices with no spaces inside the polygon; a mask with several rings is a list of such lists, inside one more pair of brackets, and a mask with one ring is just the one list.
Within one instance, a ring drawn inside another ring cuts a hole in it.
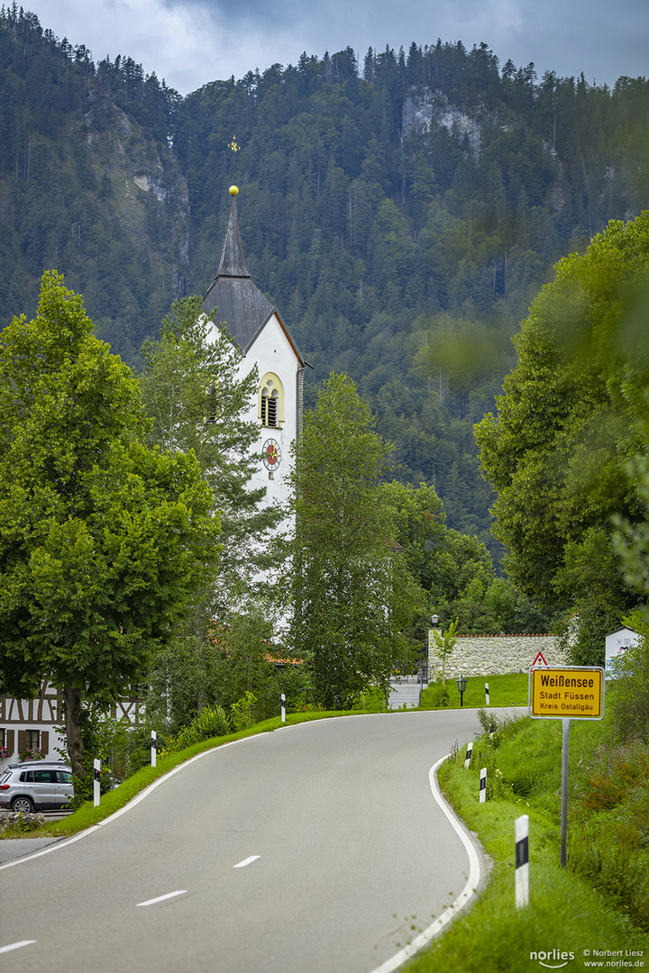
[{"label": "big leafy green tree at left edge, behind the silver car", "polygon": [[114,699],[211,575],[218,518],[194,456],[142,446],[136,379],[55,271],[0,336],[0,673],[62,689],[85,775],[82,703]]}]

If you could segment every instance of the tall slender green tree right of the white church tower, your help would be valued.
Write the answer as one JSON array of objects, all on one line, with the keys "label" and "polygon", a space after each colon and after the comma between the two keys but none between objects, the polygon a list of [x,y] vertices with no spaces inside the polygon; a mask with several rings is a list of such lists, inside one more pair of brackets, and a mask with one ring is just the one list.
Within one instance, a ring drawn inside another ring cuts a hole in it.
[{"label": "tall slender green tree right of the white church tower", "polygon": [[295,454],[291,642],[312,656],[320,701],[349,706],[369,685],[386,687],[403,655],[406,580],[379,486],[389,450],[350,378],[324,383]]}]

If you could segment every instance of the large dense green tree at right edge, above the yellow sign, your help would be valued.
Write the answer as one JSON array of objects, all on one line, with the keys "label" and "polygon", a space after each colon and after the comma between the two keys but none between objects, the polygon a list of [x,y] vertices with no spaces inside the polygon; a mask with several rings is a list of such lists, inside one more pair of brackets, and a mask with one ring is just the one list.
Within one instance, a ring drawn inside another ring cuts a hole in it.
[{"label": "large dense green tree at right edge, above the yellow sign", "polygon": [[648,274],[649,213],[560,261],[523,322],[497,417],[476,426],[507,569],[526,595],[577,607],[582,663],[601,661],[605,631],[636,600],[611,542],[614,516],[631,531],[646,519],[625,469],[646,449]]}]

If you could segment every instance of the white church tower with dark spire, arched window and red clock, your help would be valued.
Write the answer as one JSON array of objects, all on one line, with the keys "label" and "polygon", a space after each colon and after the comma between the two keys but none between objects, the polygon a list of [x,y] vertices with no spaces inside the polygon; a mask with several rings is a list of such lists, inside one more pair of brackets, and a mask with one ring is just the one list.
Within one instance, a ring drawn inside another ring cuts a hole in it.
[{"label": "white church tower with dark spire, arched window and red clock", "polygon": [[[259,468],[251,486],[266,487],[266,502],[283,504],[289,497],[290,446],[300,436],[303,385],[307,362],[277,308],[253,284],[243,256],[236,215],[238,189],[231,186],[230,219],[221,264],[202,303],[223,322],[243,355],[241,375],[256,365],[259,385],[245,418],[259,423],[256,452]],[[213,325],[218,327],[218,325]]]}]

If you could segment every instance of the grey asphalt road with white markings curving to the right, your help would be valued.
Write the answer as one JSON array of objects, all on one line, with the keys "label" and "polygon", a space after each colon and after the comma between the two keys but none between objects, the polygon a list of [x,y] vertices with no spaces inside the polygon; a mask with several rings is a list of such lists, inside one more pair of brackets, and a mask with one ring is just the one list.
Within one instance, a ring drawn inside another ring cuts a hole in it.
[{"label": "grey asphalt road with white markings curving to the right", "polygon": [[398,712],[201,755],[0,869],[0,969],[371,973],[467,882],[429,769],[478,730],[475,710]]}]

